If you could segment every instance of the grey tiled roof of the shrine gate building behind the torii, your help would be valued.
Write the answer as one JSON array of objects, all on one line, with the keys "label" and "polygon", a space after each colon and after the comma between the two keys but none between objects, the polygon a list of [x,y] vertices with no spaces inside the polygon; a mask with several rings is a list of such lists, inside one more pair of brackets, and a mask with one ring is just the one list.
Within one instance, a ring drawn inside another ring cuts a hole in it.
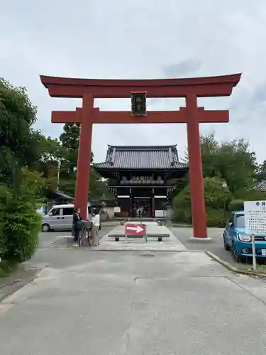
[{"label": "grey tiled roof of the shrine gate building behind the torii", "polygon": [[177,169],[180,163],[177,146],[108,146],[106,160],[95,168],[111,169]]}]

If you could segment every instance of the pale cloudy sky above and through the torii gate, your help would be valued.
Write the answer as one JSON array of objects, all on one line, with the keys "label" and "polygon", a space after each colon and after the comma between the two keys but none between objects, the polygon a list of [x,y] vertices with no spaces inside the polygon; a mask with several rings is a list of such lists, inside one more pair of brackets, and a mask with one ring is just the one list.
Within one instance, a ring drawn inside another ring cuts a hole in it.
[{"label": "pale cloudy sky above and through the torii gate", "polygon": [[[0,76],[28,89],[37,129],[56,138],[52,110],[81,99],[50,98],[39,75],[99,79],[204,77],[243,72],[231,97],[198,99],[230,109],[229,124],[201,124],[221,141],[245,138],[266,159],[265,0],[9,0],[0,3]],[[130,110],[130,99],[96,99],[103,110]],[[148,99],[148,110],[171,110],[184,99]],[[185,124],[94,125],[94,161],[111,145],[187,146]]]}]

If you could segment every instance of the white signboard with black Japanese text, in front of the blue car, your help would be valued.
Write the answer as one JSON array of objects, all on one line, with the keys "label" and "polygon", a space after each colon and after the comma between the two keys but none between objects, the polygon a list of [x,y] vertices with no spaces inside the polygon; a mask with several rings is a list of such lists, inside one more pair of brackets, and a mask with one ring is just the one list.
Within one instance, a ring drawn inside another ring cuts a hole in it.
[{"label": "white signboard with black Japanese text, in front of the blue car", "polygon": [[266,234],[266,201],[245,201],[245,232]]}]

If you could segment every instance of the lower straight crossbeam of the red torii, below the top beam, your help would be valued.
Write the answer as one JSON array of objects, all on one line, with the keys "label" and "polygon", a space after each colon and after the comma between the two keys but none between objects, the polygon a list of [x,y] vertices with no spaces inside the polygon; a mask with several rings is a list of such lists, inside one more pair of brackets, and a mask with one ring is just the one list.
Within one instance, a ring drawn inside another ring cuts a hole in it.
[{"label": "lower straight crossbeam of the red torii, below the top beam", "polygon": [[[82,109],[77,111],[52,111],[52,123],[79,123]],[[204,110],[198,109],[197,119],[199,123],[218,123],[229,121],[228,110]],[[148,116],[133,117],[128,111],[99,111],[94,109],[93,116],[87,117],[94,124],[184,124],[189,121],[185,107],[180,111],[148,111]]]}]

